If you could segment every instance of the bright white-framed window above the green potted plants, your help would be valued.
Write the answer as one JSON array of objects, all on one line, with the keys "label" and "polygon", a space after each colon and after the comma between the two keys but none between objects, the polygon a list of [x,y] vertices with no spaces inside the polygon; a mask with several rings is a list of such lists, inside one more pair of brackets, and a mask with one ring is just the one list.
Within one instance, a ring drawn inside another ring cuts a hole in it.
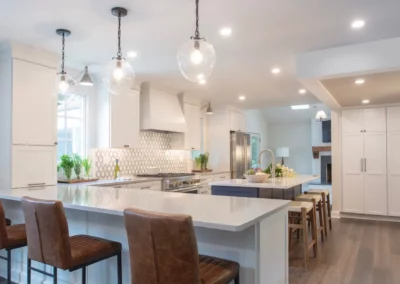
[{"label": "bright white-framed window above the green potted plants", "polygon": [[59,97],[57,113],[58,160],[64,154],[85,156],[86,99],[72,95]]}]

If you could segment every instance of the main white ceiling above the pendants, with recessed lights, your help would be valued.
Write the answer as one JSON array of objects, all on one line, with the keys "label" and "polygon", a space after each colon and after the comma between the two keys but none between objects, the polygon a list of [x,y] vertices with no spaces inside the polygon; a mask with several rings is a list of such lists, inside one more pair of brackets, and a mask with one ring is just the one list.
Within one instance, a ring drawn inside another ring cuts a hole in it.
[{"label": "main white ceiling above the pendants, with recessed lights", "polygon": [[[400,1],[385,0],[201,0],[200,32],[217,51],[206,86],[186,81],[176,51],[193,34],[194,0],[13,0],[1,1],[0,40],[14,39],[59,53],[57,28],[67,28],[68,64],[103,64],[116,53],[113,6],[129,10],[123,19],[123,50],[134,49],[138,80],[244,108],[316,103],[300,96],[297,53],[400,35]],[[361,17],[363,30],[349,28]],[[222,38],[221,27],[233,29]],[[282,74],[273,76],[272,67]],[[239,94],[247,100],[238,102]]]}]

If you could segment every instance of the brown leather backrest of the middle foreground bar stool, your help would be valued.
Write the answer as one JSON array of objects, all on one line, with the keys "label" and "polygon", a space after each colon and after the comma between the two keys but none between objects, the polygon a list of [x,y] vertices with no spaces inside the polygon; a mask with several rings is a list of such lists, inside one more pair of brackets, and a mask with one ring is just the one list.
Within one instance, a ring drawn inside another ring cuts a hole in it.
[{"label": "brown leather backrest of the middle foreground bar stool", "polygon": [[28,257],[60,269],[71,262],[68,223],[60,201],[22,198]]}]

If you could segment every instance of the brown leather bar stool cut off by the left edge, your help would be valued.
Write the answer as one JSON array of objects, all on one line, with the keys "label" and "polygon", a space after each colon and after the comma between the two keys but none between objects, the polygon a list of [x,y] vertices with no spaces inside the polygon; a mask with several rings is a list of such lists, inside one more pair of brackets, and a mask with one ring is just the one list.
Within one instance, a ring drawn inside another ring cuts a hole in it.
[{"label": "brown leather bar stool cut off by the left edge", "polygon": [[11,226],[7,225],[7,220],[3,204],[0,202],[0,249],[7,252],[7,257],[0,258],[7,260],[7,283],[11,284],[11,251],[26,246],[26,232],[24,224]]}]

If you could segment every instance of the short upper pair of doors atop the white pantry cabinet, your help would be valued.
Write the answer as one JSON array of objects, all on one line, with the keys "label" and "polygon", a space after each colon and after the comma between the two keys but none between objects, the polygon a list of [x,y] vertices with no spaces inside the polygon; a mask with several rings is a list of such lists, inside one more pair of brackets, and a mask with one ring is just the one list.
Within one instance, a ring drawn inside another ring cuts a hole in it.
[{"label": "short upper pair of doors atop the white pantry cabinet", "polygon": [[342,111],[344,134],[386,132],[385,108],[365,108]]}]

